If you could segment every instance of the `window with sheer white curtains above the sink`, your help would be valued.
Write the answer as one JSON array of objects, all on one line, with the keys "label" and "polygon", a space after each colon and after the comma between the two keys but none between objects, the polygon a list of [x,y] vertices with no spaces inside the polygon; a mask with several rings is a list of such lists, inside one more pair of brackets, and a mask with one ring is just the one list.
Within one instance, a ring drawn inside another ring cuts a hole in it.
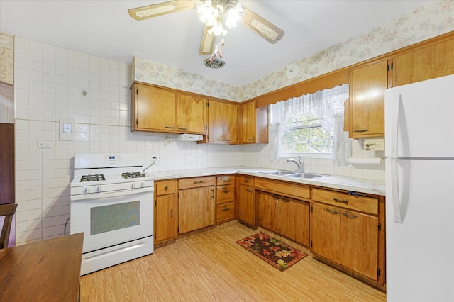
[{"label": "window with sheer white curtains above the sink", "polygon": [[330,156],[336,146],[336,116],[343,120],[346,99],[348,85],[342,85],[272,104],[270,160],[295,154]]}]

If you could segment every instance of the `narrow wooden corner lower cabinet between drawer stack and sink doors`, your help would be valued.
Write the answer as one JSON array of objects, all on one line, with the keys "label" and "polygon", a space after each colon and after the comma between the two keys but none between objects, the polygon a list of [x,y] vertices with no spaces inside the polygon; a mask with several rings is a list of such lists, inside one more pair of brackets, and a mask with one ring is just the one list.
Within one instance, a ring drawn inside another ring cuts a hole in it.
[{"label": "narrow wooden corner lower cabinet between drawer stack and sink doors", "polygon": [[255,218],[255,191],[253,177],[237,177],[238,194],[238,220],[251,228],[257,228]]}]

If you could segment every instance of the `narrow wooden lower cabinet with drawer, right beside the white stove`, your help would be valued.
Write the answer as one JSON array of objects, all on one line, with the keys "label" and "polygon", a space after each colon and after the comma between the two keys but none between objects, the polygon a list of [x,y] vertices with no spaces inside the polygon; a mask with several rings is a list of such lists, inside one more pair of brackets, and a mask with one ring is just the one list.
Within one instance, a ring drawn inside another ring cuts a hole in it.
[{"label": "narrow wooden lower cabinet with drawer, right beside the white stove", "polygon": [[155,243],[177,237],[177,181],[155,181]]}]

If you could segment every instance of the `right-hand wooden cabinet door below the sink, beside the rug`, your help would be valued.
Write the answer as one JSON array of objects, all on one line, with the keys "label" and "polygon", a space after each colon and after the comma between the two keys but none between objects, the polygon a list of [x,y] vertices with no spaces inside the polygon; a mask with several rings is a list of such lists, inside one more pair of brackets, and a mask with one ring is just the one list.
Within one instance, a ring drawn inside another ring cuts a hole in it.
[{"label": "right-hand wooden cabinet door below the sink, beside the rug", "polygon": [[309,203],[281,197],[278,213],[281,235],[309,247]]}]

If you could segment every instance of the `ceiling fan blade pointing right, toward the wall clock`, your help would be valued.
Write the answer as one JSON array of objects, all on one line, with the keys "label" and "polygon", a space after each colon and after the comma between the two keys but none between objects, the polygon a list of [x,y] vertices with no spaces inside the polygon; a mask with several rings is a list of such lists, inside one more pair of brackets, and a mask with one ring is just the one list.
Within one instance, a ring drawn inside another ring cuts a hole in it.
[{"label": "ceiling fan blade pointing right, toward the wall clock", "polygon": [[271,44],[275,44],[284,36],[284,30],[277,28],[245,6],[243,6],[243,18],[241,18],[241,23],[250,28],[250,30],[255,31],[255,33]]}]

